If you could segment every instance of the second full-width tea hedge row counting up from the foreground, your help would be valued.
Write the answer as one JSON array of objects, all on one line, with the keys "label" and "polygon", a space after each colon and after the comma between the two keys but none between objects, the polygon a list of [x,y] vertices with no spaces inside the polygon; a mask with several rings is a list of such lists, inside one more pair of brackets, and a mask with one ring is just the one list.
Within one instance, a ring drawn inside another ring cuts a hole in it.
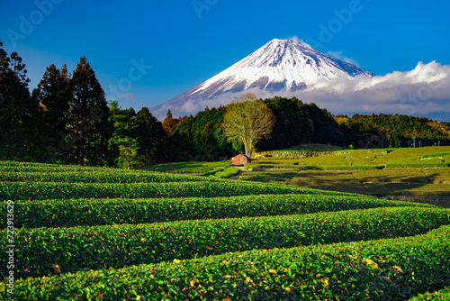
[{"label": "second full-width tea hedge row counting up from the foreground", "polygon": [[[49,275],[54,264],[64,272],[76,272],[230,251],[395,238],[427,233],[449,223],[450,211],[446,209],[398,207],[175,223],[20,229],[15,233],[15,243],[20,246],[14,258],[15,275]],[[0,242],[2,249],[6,249],[6,244],[4,237]],[[1,266],[6,265],[4,261]]]}]

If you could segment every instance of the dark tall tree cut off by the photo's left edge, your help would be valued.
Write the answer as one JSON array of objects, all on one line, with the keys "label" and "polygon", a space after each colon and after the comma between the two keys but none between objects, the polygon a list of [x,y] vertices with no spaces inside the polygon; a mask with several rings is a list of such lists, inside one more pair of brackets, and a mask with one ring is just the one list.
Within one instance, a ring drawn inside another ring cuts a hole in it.
[{"label": "dark tall tree cut off by the photo's left edge", "polygon": [[25,64],[0,41],[0,159],[45,161],[39,104],[28,90]]}]

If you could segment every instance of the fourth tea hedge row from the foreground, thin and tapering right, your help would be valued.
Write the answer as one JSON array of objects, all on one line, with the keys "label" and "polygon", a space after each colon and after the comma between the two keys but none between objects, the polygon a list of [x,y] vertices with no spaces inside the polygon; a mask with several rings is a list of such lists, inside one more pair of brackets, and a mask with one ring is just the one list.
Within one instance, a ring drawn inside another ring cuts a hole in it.
[{"label": "fourth tea hedge row from the foreground, thin and tapering right", "polygon": [[[208,178],[205,178],[208,179]],[[356,196],[338,192],[266,185],[263,183],[221,181],[190,181],[171,183],[53,183],[0,182],[0,198],[4,200],[43,200],[58,198],[148,198],[148,197],[211,197],[257,194],[321,194]]]}]

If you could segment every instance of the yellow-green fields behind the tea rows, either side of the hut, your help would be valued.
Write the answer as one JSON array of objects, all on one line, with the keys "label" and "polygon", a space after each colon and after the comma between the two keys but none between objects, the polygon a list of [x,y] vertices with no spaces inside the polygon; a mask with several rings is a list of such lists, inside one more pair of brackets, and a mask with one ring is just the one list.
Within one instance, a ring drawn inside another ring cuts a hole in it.
[{"label": "yellow-green fields behind the tea rows, either side of the hut", "polygon": [[[294,151],[301,150],[289,150]],[[254,160],[246,164],[250,171],[241,173],[239,179],[371,196],[450,196],[450,147],[336,153],[302,159]],[[209,175],[228,166],[229,161],[172,163],[153,170]]]}]

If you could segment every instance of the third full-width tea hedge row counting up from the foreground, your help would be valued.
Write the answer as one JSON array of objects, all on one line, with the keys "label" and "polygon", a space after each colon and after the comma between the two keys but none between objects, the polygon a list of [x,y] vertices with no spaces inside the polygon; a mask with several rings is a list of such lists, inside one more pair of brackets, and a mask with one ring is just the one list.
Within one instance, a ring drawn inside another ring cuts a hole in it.
[{"label": "third full-width tea hedge row counting up from the foreground", "polygon": [[[434,205],[391,201],[373,196],[252,195],[149,199],[53,199],[15,201],[14,227],[73,227],[114,223],[159,223],[178,220],[311,214],[375,207]],[[6,227],[7,203],[0,203]]]}]

